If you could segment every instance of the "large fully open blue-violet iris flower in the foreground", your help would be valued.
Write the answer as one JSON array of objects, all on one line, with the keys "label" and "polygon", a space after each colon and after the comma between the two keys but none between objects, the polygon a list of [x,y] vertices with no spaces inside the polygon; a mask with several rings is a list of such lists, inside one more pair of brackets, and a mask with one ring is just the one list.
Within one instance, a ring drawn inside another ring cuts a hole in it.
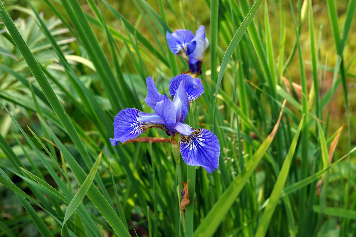
[{"label": "large fully open blue-violet iris flower in the foreground", "polygon": [[195,129],[184,123],[189,104],[204,92],[199,78],[179,74],[169,82],[169,93],[161,95],[152,77],[147,77],[147,96],[145,102],[155,113],[145,113],[128,108],[121,110],[114,119],[113,146],[135,138],[152,127],[161,128],[172,138],[178,134],[180,153],[188,165],[200,165],[209,173],[219,166],[220,143],[216,135],[204,128]]}]

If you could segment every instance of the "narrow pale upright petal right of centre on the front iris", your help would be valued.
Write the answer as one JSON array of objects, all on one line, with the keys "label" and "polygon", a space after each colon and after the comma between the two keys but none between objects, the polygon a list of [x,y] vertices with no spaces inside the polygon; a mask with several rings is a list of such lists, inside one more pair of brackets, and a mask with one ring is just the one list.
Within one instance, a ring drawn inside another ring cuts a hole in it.
[{"label": "narrow pale upright petal right of centre on the front iris", "polygon": [[173,99],[173,104],[176,106],[176,122],[184,123],[188,114],[189,100],[188,93],[185,91],[185,80],[180,81],[176,95]]}]

